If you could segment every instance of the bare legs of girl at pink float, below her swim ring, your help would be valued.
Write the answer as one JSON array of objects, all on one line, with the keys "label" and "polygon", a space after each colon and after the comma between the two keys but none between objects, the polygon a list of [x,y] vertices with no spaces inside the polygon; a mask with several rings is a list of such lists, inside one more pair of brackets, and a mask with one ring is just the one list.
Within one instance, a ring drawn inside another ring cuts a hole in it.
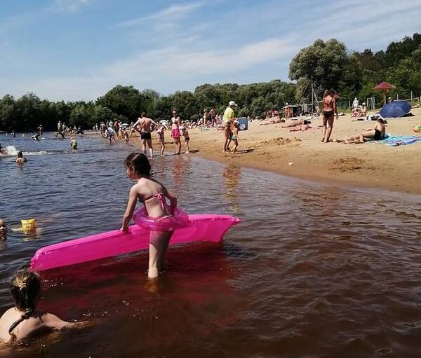
[{"label": "bare legs of girl at pink float, below her swim ring", "polygon": [[148,278],[156,278],[163,268],[166,250],[173,231],[151,231],[149,233],[149,271]]}]

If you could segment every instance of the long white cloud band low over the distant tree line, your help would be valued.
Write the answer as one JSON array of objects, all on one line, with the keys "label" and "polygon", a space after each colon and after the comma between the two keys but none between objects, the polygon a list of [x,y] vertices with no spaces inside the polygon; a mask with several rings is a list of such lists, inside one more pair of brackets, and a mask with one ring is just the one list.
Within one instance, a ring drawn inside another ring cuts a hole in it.
[{"label": "long white cloud band low over the distant tree line", "polygon": [[[239,74],[254,66],[281,60],[291,50],[290,41],[268,39],[222,51],[189,51],[168,47],[116,62],[91,72],[90,76],[64,76],[27,81],[25,85],[4,83],[20,95],[33,90],[51,100],[95,99],[116,84],[155,88],[163,93],[192,89],[199,85],[196,78],[212,82],[215,75]],[[12,82],[12,81],[11,81]]]}]

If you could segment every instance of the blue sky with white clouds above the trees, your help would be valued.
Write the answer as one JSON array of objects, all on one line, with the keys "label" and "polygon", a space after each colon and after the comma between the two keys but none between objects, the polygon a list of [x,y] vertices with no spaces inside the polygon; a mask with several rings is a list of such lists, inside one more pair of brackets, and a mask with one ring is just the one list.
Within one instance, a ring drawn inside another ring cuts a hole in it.
[{"label": "blue sky with white clouds above the trees", "polygon": [[421,32],[421,0],[0,0],[0,96],[91,100],[288,80],[316,39],[382,50]]}]

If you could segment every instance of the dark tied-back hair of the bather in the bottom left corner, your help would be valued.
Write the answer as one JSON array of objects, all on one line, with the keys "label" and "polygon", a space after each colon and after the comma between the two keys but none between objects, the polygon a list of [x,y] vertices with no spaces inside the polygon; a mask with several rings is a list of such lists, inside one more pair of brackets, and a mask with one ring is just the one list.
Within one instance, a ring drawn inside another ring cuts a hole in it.
[{"label": "dark tied-back hair of the bather in the bottom left corner", "polygon": [[11,295],[15,307],[23,311],[20,319],[15,321],[8,330],[8,333],[13,335],[12,331],[20,322],[31,317],[36,308],[36,297],[41,288],[41,280],[36,273],[32,273],[29,267],[20,268],[11,280]]}]

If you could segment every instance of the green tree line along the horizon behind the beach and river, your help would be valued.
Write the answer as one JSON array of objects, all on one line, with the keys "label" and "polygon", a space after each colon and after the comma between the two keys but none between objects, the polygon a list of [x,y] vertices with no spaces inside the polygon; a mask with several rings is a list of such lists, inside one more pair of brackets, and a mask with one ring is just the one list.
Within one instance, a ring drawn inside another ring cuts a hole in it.
[{"label": "green tree line along the horizon behind the beach and river", "polygon": [[239,104],[237,116],[264,116],[269,109],[289,104],[309,103],[313,86],[320,99],[323,90],[334,88],[342,99],[375,97],[381,93],[373,87],[381,81],[396,86],[391,95],[401,98],[421,95],[421,34],[392,42],[386,50],[373,53],[347,50],[336,39],[316,40],[302,48],[290,62],[289,77],[294,83],[280,80],[238,85],[236,83],[199,85],[194,92],[177,91],[160,95],[155,90],[138,90],[133,86],[116,85],[95,101],[51,102],[29,92],[15,99],[5,95],[0,100],[0,130],[34,130],[39,124],[54,130],[58,121],[83,129],[96,123],[120,118],[130,123],[143,111],[156,120],[168,119],[173,108],[182,119],[196,120],[203,109],[214,108],[222,113],[227,103]]}]

